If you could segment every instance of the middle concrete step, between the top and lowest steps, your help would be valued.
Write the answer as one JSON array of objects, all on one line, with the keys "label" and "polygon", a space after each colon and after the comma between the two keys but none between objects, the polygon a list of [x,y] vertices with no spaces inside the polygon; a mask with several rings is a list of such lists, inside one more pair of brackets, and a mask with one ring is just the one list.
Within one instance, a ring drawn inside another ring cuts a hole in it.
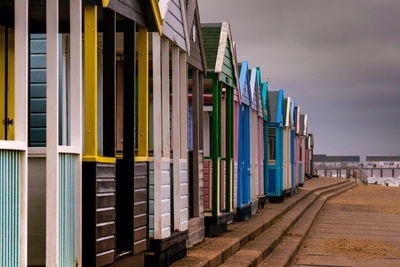
[{"label": "middle concrete step, between the top and lowest steps", "polygon": [[303,214],[317,201],[320,196],[343,190],[351,185],[345,182],[339,185],[318,189],[298,203],[279,221],[266,229],[255,240],[227,259],[222,266],[257,266],[277,247],[288,231],[299,221]]}]

